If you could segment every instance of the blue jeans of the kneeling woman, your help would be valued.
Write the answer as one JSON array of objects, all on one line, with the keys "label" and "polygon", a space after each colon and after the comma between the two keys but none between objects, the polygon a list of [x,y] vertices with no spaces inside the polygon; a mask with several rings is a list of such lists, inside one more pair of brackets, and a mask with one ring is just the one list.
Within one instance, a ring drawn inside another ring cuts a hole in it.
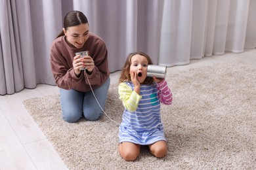
[{"label": "blue jeans of the kneeling woman", "polygon": [[[96,99],[102,109],[104,109],[110,78],[99,88],[93,90]],[[77,122],[82,116],[87,120],[98,120],[102,115],[102,109],[98,105],[93,92],[79,92],[77,90],[64,90],[60,88],[60,104],[62,118],[66,122]]]}]

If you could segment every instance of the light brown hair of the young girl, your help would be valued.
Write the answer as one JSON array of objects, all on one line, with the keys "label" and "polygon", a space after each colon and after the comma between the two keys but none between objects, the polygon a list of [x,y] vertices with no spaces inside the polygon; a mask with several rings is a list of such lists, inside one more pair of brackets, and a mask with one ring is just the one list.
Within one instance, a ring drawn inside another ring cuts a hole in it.
[{"label": "light brown hair of the young girl", "polygon": [[[130,76],[131,58],[137,54],[140,56],[144,56],[148,60],[148,65],[153,64],[152,60],[150,59],[150,56],[148,56],[144,52],[133,52],[133,53],[129,54],[125,61],[125,64],[123,65],[123,69],[121,70],[121,75],[119,77],[119,83],[131,81],[131,76]],[[147,76],[146,79],[144,80],[143,84],[152,84],[153,81],[154,80],[152,77]]]}]

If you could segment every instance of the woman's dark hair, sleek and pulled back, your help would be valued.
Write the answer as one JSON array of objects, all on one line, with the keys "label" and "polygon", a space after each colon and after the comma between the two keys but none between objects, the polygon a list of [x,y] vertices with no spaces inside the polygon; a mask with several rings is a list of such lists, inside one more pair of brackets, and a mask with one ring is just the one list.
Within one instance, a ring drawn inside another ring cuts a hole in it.
[{"label": "woman's dark hair, sleek and pulled back", "polygon": [[[64,17],[63,27],[64,29],[68,29],[68,27],[87,23],[88,20],[83,12],[80,12],[78,10],[72,10],[68,12],[68,14],[66,14],[66,16]],[[63,30],[58,34],[56,38],[61,37],[62,35],[65,35]]]}]

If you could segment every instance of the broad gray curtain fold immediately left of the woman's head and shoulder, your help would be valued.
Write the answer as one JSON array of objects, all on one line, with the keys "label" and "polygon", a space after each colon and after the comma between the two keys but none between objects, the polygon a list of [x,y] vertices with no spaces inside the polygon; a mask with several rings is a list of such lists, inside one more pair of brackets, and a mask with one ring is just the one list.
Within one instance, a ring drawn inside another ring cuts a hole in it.
[{"label": "broad gray curtain fold immediately left of the woman's head and shoulder", "polygon": [[35,80],[37,84],[55,84],[49,56],[51,43],[62,31],[62,1],[30,1],[30,7]]}]

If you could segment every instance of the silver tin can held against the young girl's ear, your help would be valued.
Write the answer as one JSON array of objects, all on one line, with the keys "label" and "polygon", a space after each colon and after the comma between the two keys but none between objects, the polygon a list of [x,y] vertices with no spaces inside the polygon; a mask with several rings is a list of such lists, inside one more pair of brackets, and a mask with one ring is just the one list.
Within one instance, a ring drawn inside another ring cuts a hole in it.
[{"label": "silver tin can held against the young girl's ear", "polygon": [[162,65],[148,65],[147,76],[156,76],[156,78],[165,78],[167,67]]}]

